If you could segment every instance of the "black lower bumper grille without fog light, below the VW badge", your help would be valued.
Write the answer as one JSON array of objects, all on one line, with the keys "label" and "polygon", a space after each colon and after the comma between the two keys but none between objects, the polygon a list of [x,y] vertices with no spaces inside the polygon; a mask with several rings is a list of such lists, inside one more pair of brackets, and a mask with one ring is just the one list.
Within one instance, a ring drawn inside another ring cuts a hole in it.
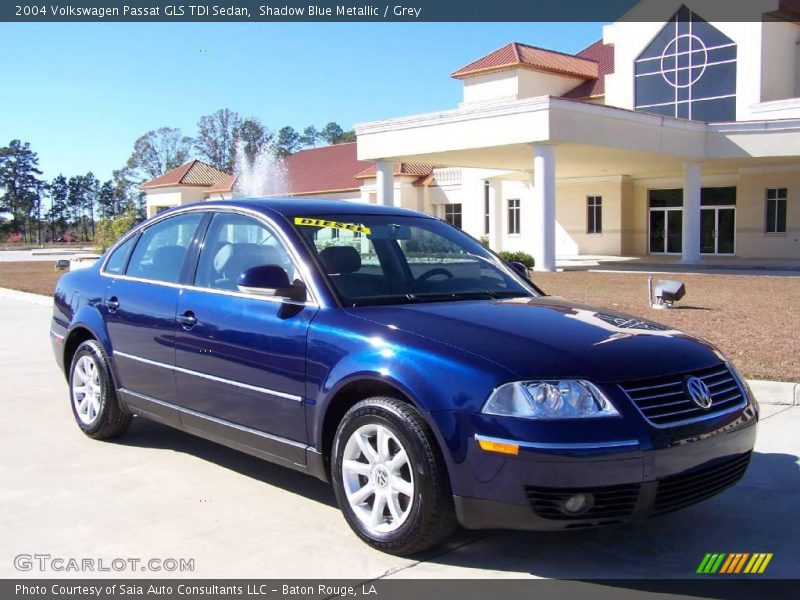
[{"label": "black lower bumper grille without fog light, below the VW badge", "polygon": [[711,467],[665,477],[658,482],[655,512],[678,510],[719,494],[742,478],[749,463],[748,452]]}]

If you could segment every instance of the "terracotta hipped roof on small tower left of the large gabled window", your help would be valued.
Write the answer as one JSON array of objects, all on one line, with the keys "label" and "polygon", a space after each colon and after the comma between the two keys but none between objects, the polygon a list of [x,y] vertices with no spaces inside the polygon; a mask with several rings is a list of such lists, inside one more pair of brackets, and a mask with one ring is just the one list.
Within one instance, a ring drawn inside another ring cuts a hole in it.
[{"label": "terracotta hipped roof on small tower left of the large gabled window", "polygon": [[520,44],[519,42],[511,42],[468,64],[466,67],[462,67],[453,73],[451,77],[464,79],[483,73],[513,68],[545,71],[583,79],[596,79],[598,75],[597,62],[589,57],[564,54],[554,50]]}]

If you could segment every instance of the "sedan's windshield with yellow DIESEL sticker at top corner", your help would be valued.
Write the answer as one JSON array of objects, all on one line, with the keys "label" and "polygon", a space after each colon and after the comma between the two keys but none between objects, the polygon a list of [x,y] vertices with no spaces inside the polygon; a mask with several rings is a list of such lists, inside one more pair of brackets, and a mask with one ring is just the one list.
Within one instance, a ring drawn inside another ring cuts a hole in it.
[{"label": "sedan's windshield with yellow DIESEL sticker at top corner", "polygon": [[536,296],[481,244],[435,219],[294,217],[345,306]]}]

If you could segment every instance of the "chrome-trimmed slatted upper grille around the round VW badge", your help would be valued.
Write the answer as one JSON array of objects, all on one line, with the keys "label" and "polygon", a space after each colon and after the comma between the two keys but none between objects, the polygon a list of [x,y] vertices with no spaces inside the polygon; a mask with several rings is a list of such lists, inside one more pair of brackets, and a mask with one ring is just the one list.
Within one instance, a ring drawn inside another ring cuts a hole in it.
[{"label": "chrome-trimmed slatted upper grille around the round VW badge", "polygon": [[[711,407],[700,408],[684,387],[687,377],[702,379],[711,392]],[[633,381],[621,385],[636,408],[657,427],[707,419],[740,408],[746,399],[727,365],[717,365],[682,375]]]}]

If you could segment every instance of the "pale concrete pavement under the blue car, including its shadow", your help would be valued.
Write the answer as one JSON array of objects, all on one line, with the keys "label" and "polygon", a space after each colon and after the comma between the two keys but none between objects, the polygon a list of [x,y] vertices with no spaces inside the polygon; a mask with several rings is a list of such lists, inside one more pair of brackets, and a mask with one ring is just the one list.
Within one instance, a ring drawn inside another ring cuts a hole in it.
[{"label": "pale concrete pavement under the blue car, including its shadow", "polygon": [[798,407],[764,406],[745,479],[700,505],[606,529],[460,532],[408,560],[361,543],[308,476],[144,420],[114,443],[83,436],[49,317],[0,297],[0,577],[42,576],[17,571],[19,554],[194,559],[184,573],[47,573],[70,577],[690,577],[706,552],[773,552],[767,575],[798,575]]}]

